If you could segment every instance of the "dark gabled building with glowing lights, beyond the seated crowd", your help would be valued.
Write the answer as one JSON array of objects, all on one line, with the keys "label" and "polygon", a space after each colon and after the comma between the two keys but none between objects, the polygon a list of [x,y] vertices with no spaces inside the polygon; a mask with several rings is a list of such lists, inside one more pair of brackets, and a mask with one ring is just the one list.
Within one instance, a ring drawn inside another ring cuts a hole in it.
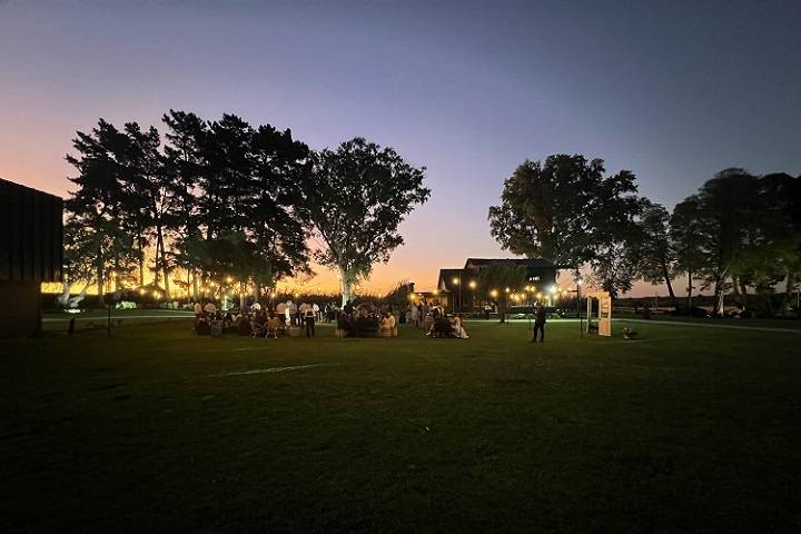
[{"label": "dark gabled building with glowing lights, beyond the seated crowd", "polygon": [[527,281],[545,288],[556,284],[558,268],[546,259],[467,258],[461,269],[439,269],[437,290],[447,295],[448,309],[469,310],[487,300],[488,288],[481,287],[481,271],[490,265],[522,265]]}]

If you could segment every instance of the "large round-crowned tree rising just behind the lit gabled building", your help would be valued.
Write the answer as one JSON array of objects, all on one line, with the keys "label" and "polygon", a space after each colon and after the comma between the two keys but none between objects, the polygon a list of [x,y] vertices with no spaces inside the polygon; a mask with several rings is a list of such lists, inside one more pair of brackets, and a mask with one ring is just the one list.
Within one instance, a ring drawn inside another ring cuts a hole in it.
[{"label": "large round-crowned tree rising just behind the lit gabled building", "polygon": [[490,208],[493,237],[505,249],[558,266],[591,263],[604,287],[631,287],[635,270],[620,251],[633,238],[640,204],[634,175],[604,177],[603,160],[548,156],[526,160],[504,181],[502,204]]}]

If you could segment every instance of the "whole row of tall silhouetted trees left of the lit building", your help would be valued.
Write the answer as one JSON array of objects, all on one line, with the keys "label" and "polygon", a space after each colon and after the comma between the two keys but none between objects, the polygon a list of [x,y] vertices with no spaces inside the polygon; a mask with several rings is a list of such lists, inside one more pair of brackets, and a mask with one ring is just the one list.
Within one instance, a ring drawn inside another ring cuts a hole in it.
[{"label": "whole row of tall silhouetted trees left of the lit building", "polygon": [[[403,244],[397,228],[431,191],[425,167],[354,138],[315,151],[289,129],[170,110],[154,126],[100,119],[77,132],[66,201],[66,271],[96,284],[152,286],[190,298],[226,280],[256,298],[277,280],[339,271],[343,298]],[[180,276],[179,276],[180,275]],[[112,284],[112,281],[115,284]]]}]

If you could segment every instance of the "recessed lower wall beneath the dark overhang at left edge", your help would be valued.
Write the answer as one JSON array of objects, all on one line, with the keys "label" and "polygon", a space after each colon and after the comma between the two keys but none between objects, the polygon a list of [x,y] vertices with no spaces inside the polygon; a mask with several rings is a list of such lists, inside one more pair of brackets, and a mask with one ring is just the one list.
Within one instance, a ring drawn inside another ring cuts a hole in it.
[{"label": "recessed lower wall beneath the dark overhang at left edge", "polygon": [[38,281],[0,280],[0,337],[41,333],[41,296]]}]

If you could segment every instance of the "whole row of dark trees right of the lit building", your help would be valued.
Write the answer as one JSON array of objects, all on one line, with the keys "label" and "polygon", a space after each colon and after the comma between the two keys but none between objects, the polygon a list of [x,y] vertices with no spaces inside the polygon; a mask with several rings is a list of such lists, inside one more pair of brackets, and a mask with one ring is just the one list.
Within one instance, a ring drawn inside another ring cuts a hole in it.
[{"label": "whole row of dark trees right of the lit building", "polygon": [[[772,315],[770,296],[783,285],[784,313],[801,277],[801,177],[783,172],[721,170],[671,212],[639,196],[629,170],[610,176],[601,159],[553,155],[520,165],[488,219],[514,254],[589,268],[612,296],[639,279],[664,284],[685,310],[700,288],[713,291],[715,315],[729,293]],[[680,276],[689,280],[684,301],[674,289]]]}]

